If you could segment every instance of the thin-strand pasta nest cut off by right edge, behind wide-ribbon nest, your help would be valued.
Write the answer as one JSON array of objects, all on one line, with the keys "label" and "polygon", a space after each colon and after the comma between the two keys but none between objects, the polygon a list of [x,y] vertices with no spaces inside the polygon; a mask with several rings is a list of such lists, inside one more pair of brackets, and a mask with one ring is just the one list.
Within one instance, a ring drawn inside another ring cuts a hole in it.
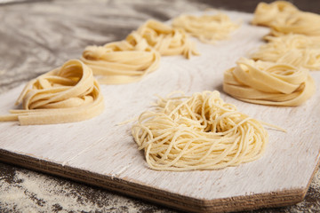
[{"label": "thin-strand pasta nest cut off by right edge, behind wide-ribbon nest", "polygon": [[268,43],[252,53],[252,59],[278,63],[285,60],[295,67],[320,70],[320,37],[288,34],[265,38]]}]

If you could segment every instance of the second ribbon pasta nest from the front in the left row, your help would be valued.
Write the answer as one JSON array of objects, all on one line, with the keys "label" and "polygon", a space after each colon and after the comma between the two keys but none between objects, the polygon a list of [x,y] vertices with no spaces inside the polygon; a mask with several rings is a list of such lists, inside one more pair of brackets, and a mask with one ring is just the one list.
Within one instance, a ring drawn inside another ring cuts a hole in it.
[{"label": "second ribbon pasta nest from the front in the left row", "polygon": [[139,81],[156,70],[160,54],[139,35],[128,41],[107,43],[104,46],[87,46],[81,60],[92,68],[99,83],[119,84]]}]

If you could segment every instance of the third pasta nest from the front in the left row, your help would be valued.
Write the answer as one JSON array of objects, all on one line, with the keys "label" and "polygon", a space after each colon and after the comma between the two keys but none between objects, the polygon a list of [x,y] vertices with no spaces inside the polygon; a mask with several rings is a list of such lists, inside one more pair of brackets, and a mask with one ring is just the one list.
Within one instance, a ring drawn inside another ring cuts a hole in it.
[{"label": "third pasta nest from the front in the left row", "polygon": [[136,31],[133,31],[126,40],[132,41],[132,35],[139,35],[146,39],[148,45],[159,51],[161,55],[183,55],[190,58],[198,55],[196,44],[188,39],[183,29],[176,29],[156,20],[148,20]]}]

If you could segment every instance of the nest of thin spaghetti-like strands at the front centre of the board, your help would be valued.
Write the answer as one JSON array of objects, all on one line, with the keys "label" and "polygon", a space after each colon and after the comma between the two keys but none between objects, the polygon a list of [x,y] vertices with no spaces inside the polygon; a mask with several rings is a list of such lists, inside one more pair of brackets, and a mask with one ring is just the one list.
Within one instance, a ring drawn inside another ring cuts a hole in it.
[{"label": "nest of thin spaghetti-like strands at the front centre of the board", "polygon": [[268,144],[262,124],[219,91],[159,98],[140,114],[132,136],[153,170],[219,170],[258,159]]}]

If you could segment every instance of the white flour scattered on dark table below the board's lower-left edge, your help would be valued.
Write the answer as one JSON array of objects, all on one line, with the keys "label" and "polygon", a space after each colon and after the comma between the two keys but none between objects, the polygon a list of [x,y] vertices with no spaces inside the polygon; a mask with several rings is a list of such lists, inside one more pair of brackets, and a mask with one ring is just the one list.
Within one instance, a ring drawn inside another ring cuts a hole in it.
[{"label": "white flour scattered on dark table below the board's lower-left edge", "polygon": [[16,170],[10,184],[0,179],[0,192],[0,212],[174,212],[29,170]]}]

